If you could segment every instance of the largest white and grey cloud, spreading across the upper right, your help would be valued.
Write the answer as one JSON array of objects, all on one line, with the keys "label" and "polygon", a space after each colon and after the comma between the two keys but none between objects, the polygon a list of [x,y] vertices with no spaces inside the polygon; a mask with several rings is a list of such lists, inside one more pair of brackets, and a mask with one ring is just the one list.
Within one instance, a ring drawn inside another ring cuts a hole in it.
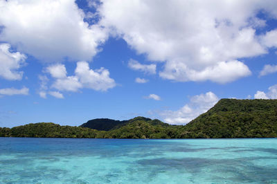
[{"label": "largest white and grey cloud, spreading across the upper right", "polygon": [[270,0],[102,0],[98,10],[100,24],[112,34],[148,59],[166,62],[160,75],[169,80],[238,80],[251,73],[240,58],[265,54],[277,43],[271,39],[274,44],[265,46],[256,35],[256,28],[266,26],[257,17],[260,10],[277,18],[277,3]]}]

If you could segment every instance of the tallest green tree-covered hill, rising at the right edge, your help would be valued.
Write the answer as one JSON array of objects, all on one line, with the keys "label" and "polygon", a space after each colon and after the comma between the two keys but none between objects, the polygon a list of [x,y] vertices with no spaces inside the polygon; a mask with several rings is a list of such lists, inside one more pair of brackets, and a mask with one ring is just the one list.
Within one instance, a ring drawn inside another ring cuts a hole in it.
[{"label": "tallest green tree-covered hill, rising at the right edge", "polygon": [[178,138],[277,137],[277,100],[222,99],[181,128]]}]

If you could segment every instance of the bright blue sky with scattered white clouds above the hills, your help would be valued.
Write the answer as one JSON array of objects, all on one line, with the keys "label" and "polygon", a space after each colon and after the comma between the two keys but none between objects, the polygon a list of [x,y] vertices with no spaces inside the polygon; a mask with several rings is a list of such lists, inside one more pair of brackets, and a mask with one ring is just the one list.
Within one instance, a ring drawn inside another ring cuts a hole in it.
[{"label": "bright blue sky with scattered white clouds above the hills", "polygon": [[0,127],[186,125],[277,98],[275,0],[0,0]]}]

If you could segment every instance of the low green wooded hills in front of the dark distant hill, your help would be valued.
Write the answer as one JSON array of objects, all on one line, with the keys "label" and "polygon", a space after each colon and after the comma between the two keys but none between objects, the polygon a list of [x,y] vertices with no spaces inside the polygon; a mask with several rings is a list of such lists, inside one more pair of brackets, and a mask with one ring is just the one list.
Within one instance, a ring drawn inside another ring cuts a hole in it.
[{"label": "low green wooded hills in front of the dark distant hill", "polygon": [[[154,120],[152,120],[154,121]],[[30,138],[176,138],[177,127],[151,125],[134,120],[111,131],[98,131],[85,127],[60,126],[52,122],[31,123],[13,128],[0,128],[0,137]]]}]

